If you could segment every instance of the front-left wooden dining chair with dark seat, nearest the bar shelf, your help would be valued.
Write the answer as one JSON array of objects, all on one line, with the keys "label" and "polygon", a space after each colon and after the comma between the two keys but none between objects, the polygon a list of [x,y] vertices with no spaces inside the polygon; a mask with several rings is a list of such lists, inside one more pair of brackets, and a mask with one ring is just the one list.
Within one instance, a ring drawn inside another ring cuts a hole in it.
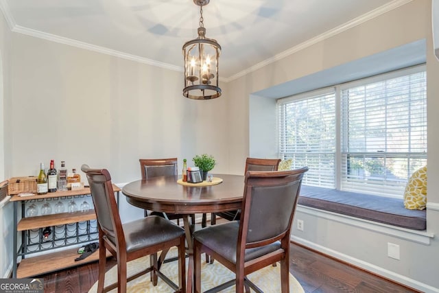
[{"label": "front-left wooden dining chair with dark seat, nearest the bar shelf", "polygon": [[[85,164],[81,170],[86,174],[90,186],[99,233],[97,292],[108,292],[114,288],[117,288],[117,292],[126,292],[129,281],[147,272],[151,272],[153,285],[157,284],[160,277],[174,291],[185,292],[185,231],[173,222],[155,215],[121,224],[108,170],[91,169]],[[174,246],[178,248],[178,285],[158,270],[157,253]],[[117,259],[117,283],[104,288],[106,250]],[[150,255],[150,266],[128,277],[128,261],[146,255]]]}]

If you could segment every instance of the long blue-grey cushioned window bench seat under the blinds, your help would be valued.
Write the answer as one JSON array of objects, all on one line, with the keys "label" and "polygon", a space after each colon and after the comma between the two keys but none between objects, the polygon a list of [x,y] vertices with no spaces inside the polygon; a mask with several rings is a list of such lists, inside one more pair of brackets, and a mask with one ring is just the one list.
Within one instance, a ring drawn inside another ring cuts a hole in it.
[{"label": "long blue-grey cushioned window bench seat under the blinds", "polygon": [[405,209],[399,198],[302,185],[298,204],[403,228],[427,228],[426,211]]}]

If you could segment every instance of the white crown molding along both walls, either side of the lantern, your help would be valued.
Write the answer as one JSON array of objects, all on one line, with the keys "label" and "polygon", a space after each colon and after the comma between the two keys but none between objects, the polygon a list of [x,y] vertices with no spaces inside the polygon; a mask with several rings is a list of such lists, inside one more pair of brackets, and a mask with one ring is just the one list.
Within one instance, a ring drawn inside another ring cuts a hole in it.
[{"label": "white crown molding along both walls, either side of the lantern", "polygon": [[[262,67],[265,67],[267,65],[272,64],[273,62],[276,62],[278,60],[281,60],[289,55],[292,55],[298,51],[301,51],[302,49],[305,49],[311,45],[314,45],[316,43],[321,42],[322,40],[325,40],[327,38],[331,38],[332,36],[335,36],[336,34],[340,34],[341,32],[344,32],[346,30],[351,29],[352,27],[355,27],[357,25],[360,25],[361,23],[365,23],[366,21],[369,21],[370,19],[374,19],[377,16],[380,16],[381,14],[384,14],[386,12],[389,12],[391,10],[394,10],[396,8],[399,8],[402,5],[405,5],[407,3],[412,2],[413,0],[394,0],[391,1],[375,10],[372,10],[366,14],[363,14],[356,19],[353,19],[351,21],[348,21],[347,23],[344,23],[343,25],[339,25],[338,27],[335,27],[332,30],[329,30],[327,32],[324,32],[323,34],[320,34],[314,38],[311,38],[303,43],[300,43],[299,45],[296,45],[290,49],[287,49],[286,51],[281,52],[280,54],[277,54],[273,56],[272,58],[268,58],[266,60],[263,60],[262,62],[257,63],[257,65],[254,65],[252,67],[249,67],[248,69],[245,69],[239,73],[236,73],[235,75],[230,76],[229,78],[219,78],[222,82],[230,82],[233,80],[236,80],[237,78],[241,78],[242,76],[252,73],[253,71],[256,71],[257,69],[261,69]],[[8,25],[10,27],[10,30],[12,32],[18,32],[21,34],[27,34],[28,36],[34,36],[36,38],[43,38],[45,40],[51,40],[56,43],[62,43],[64,45],[70,45],[73,47],[80,47],[82,49],[88,49],[91,51],[96,51],[98,53],[102,54],[108,54],[110,56],[115,56],[123,59],[128,59],[136,62],[141,62],[147,65],[153,65],[156,67],[161,67],[164,69],[170,69],[174,71],[183,71],[183,67],[179,67],[176,65],[170,65],[169,63],[165,62],[159,62],[156,60],[143,58],[140,56],[132,55],[123,53],[121,51],[108,49],[106,47],[100,47],[96,45],[91,45],[88,43],[81,42],[79,40],[73,40],[71,38],[64,38],[62,36],[57,36],[55,34],[48,34],[45,32],[40,32],[38,30],[32,30],[27,27],[22,27],[20,25],[16,25],[14,21],[14,17],[10,13],[10,9],[8,6],[8,3],[6,0],[0,0],[0,10],[3,12],[3,15],[5,16],[6,21],[8,22]]]}]

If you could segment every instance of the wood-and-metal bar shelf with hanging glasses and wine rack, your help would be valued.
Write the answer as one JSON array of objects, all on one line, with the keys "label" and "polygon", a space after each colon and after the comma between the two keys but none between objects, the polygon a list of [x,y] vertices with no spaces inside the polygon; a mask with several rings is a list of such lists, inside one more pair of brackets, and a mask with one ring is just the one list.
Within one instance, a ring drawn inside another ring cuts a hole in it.
[{"label": "wood-and-metal bar shelf with hanging glasses and wine rack", "polygon": [[[113,185],[117,204],[119,204],[120,190]],[[67,202],[72,200],[76,203],[78,211],[69,212]],[[98,241],[97,220],[89,187],[42,195],[12,195],[10,201],[14,203],[13,217],[14,231],[16,231],[14,232],[13,278],[38,276],[98,259],[99,253],[93,253],[86,259],[75,261],[79,256],[77,247]],[[84,201],[87,204],[84,205],[84,211],[81,211],[81,203]],[[43,209],[47,202],[51,209]],[[64,202],[64,209],[55,209],[58,202]],[[31,204],[35,207],[27,216],[27,209]],[[50,228],[51,233],[47,239],[44,239],[43,231],[47,227]],[[20,237],[21,242],[19,242]],[[47,261],[48,258],[51,261]]]}]

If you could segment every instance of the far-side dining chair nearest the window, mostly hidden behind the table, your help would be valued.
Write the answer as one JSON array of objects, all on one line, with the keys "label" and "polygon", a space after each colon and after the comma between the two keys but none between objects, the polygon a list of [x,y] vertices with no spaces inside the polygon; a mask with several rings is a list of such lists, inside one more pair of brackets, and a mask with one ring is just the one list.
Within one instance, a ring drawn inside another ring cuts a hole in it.
[{"label": "far-side dining chair nearest the window, mostly hidden behind the table", "polygon": [[[246,159],[246,169],[244,170],[244,175],[247,171],[277,171],[281,163],[281,159],[257,159],[257,158],[247,158]],[[222,211],[220,213],[211,213],[211,224],[216,224],[216,216],[224,218],[228,221],[239,220],[241,211]]]}]

